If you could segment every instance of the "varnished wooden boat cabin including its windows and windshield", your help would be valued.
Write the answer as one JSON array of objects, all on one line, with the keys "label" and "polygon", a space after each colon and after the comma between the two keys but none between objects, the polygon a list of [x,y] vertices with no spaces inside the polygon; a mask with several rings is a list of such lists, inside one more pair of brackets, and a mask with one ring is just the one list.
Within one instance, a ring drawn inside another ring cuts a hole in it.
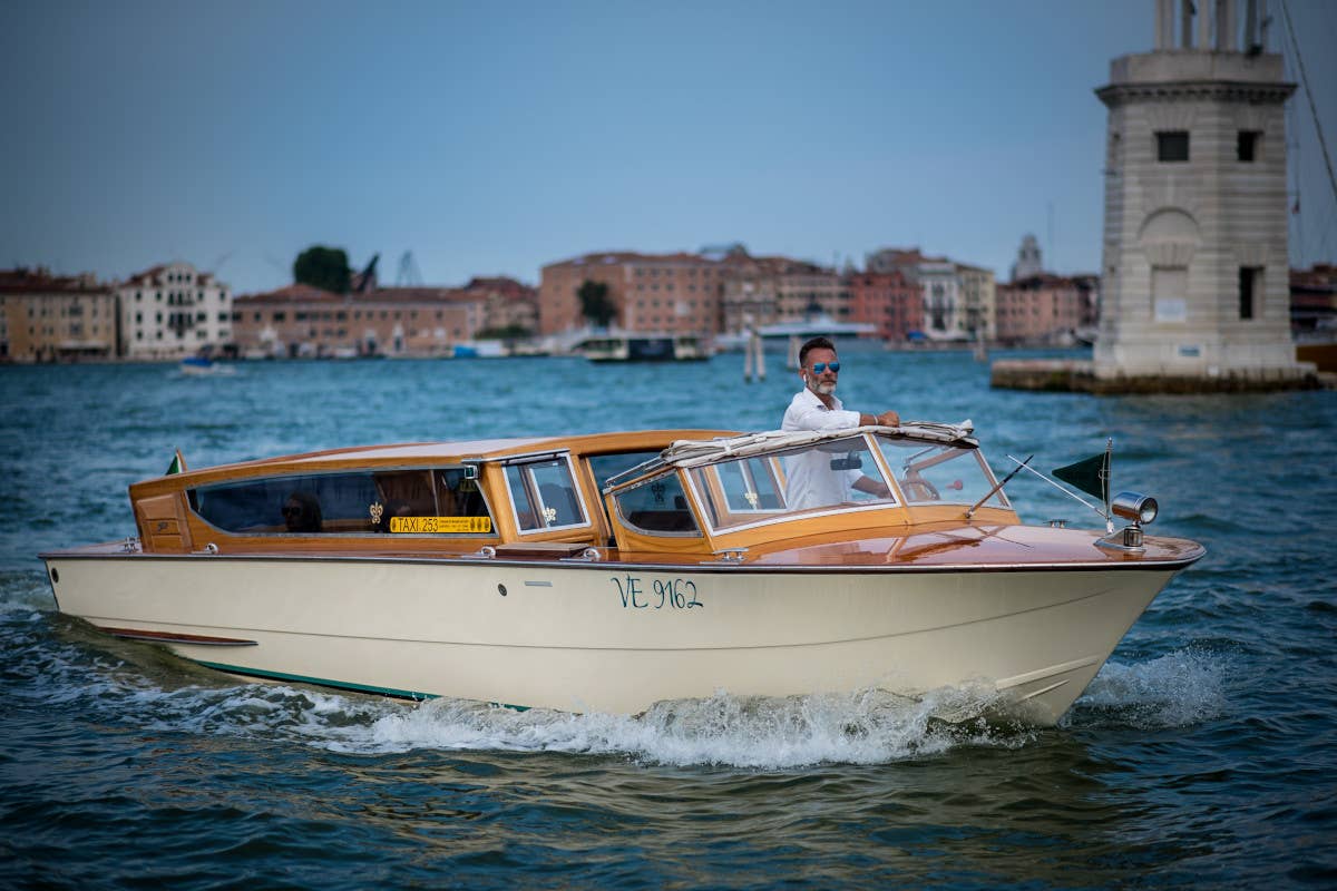
[{"label": "varnished wooden boat cabin including its windows and windshield", "polygon": [[146,553],[729,558],[806,537],[960,525],[972,508],[1016,522],[969,433],[425,442],[175,473],[130,497]]}]

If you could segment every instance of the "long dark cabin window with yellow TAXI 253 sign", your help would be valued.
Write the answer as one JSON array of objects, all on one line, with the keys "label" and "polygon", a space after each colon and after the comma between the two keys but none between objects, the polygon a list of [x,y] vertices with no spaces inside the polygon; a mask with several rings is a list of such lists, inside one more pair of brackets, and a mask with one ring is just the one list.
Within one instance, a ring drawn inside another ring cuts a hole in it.
[{"label": "long dark cabin window with yellow TAXI 253 sign", "polygon": [[492,534],[473,468],[266,477],[191,489],[205,522],[239,534]]}]

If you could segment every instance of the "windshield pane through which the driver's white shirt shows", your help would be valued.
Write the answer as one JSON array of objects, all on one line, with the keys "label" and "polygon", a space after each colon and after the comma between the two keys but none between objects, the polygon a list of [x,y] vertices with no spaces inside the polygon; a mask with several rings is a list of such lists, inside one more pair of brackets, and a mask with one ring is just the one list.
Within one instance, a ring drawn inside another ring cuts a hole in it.
[{"label": "windshield pane through which the driver's white shirt shows", "polygon": [[715,529],[896,502],[862,435],[693,468],[691,481]]}]

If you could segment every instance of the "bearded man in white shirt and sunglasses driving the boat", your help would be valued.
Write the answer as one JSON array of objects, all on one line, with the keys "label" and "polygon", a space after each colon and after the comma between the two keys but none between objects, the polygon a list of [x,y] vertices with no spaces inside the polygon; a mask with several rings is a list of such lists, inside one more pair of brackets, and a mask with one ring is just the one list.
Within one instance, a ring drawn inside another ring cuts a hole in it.
[{"label": "bearded man in white shirt and sunglasses driving the boat", "polygon": [[[825,337],[814,337],[798,351],[798,377],[804,389],[794,394],[779,429],[840,430],[857,426],[896,426],[901,417],[896,411],[868,414],[849,411],[836,395],[840,359],[836,345]],[[785,462],[787,478],[785,501],[793,509],[820,508],[848,500],[850,489],[866,492],[877,498],[890,497],[885,484],[864,476],[858,470],[833,470],[830,456],[812,450]]]}]

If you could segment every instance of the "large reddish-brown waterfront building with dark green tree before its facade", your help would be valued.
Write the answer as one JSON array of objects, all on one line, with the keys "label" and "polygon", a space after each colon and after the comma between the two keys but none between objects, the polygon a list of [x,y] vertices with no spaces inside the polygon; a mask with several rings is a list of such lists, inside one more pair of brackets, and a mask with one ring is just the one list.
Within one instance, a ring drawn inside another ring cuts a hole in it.
[{"label": "large reddish-brown waterfront building with dark green tree before its facade", "polygon": [[539,282],[539,330],[559,334],[587,326],[580,287],[608,287],[616,309],[614,326],[624,331],[714,334],[727,262],[698,254],[584,254],[543,267]]}]

